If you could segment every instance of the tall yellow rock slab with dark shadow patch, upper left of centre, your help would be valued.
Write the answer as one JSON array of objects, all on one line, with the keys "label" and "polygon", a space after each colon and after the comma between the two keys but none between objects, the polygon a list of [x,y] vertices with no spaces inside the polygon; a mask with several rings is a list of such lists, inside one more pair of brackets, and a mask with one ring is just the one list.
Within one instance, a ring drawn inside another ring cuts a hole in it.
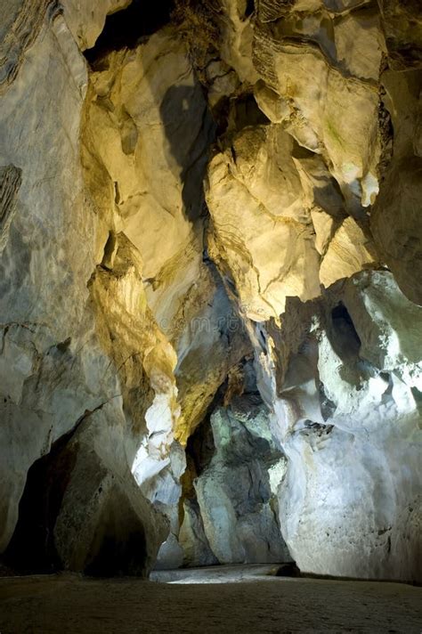
[{"label": "tall yellow rock slab with dark shadow patch, upper left of centre", "polygon": [[211,128],[172,29],[134,51],[111,53],[108,69],[93,73],[83,137],[87,183],[110,231],[125,232],[138,248],[150,307],[167,332],[199,278],[201,174]]}]

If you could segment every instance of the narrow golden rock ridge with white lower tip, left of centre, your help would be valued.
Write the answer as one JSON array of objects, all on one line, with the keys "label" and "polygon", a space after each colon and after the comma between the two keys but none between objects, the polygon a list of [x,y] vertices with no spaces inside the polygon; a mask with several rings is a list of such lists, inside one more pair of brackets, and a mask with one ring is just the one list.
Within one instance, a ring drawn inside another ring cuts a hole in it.
[{"label": "narrow golden rock ridge with white lower tip, left of centre", "polygon": [[[90,289],[98,337],[118,368],[134,435],[142,438],[140,432],[145,433],[142,445],[159,463],[170,451],[180,416],[174,378],[177,358],[150,313],[142,263],[124,234],[118,236],[113,271],[99,268]],[[136,457],[134,463],[133,470],[139,469]]]}]

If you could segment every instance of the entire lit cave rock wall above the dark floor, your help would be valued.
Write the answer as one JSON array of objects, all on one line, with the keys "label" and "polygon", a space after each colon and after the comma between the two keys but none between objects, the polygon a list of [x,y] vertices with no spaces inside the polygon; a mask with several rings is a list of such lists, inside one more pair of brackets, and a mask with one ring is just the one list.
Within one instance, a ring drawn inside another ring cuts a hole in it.
[{"label": "entire lit cave rock wall above the dark floor", "polygon": [[304,571],[420,578],[422,20],[378,4],[0,8],[12,560],[37,490],[36,567],[286,559],[280,521]]}]

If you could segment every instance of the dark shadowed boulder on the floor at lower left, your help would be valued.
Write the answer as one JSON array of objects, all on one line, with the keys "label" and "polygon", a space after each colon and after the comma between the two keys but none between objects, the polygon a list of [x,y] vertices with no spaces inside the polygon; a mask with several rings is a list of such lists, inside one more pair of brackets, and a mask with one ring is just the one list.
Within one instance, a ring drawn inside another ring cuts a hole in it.
[{"label": "dark shadowed boulder on the floor at lower left", "polygon": [[168,528],[140,495],[122,456],[99,443],[94,427],[108,425],[113,434],[108,413],[87,414],[69,442],[64,436],[31,467],[6,552],[12,565],[101,576],[150,572]]}]

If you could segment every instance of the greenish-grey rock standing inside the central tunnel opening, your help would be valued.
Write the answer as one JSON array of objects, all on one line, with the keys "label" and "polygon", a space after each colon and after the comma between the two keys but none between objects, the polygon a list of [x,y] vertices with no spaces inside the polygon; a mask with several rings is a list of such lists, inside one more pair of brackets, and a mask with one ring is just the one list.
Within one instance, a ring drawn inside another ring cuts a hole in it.
[{"label": "greenish-grey rock standing inside the central tunnel opening", "polygon": [[215,410],[211,427],[215,455],[194,482],[210,549],[221,564],[285,561],[269,475],[284,457],[272,443],[264,404],[237,397]]}]

